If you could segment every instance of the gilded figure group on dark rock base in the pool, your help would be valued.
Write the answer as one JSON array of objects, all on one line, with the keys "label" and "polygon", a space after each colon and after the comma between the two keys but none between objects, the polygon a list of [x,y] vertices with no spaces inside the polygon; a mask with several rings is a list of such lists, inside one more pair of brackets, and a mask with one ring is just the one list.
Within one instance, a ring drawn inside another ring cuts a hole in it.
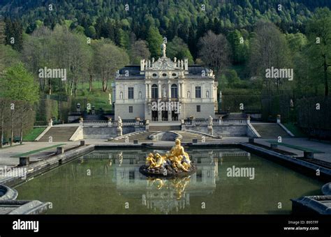
[{"label": "gilded figure group on dark rock base in the pool", "polygon": [[187,176],[196,171],[189,154],[184,151],[180,140],[175,140],[175,146],[164,155],[149,153],[146,165],[140,167],[142,174],[147,176]]}]

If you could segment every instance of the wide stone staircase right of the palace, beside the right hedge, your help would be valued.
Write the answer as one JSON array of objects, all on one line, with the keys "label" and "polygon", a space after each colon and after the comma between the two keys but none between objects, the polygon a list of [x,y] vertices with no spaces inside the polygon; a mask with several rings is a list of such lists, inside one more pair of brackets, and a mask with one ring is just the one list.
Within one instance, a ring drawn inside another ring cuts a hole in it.
[{"label": "wide stone staircase right of the palace, beside the right hedge", "polygon": [[277,123],[251,123],[262,138],[290,137]]}]

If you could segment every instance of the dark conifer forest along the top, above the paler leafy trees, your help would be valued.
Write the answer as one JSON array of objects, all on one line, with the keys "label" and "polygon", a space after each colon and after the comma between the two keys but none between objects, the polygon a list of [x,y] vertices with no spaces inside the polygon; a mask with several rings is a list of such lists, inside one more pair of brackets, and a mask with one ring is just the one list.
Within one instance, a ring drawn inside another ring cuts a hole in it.
[{"label": "dark conifer forest along the top, above the paler leafy trees", "polygon": [[110,38],[126,48],[132,33],[146,40],[150,26],[156,26],[168,40],[175,36],[184,40],[196,58],[196,43],[209,30],[247,33],[258,20],[269,20],[283,32],[304,32],[304,22],[314,9],[330,4],[328,0],[3,0],[0,14],[19,19],[27,33],[42,23],[52,29],[68,24],[91,38]]}]

